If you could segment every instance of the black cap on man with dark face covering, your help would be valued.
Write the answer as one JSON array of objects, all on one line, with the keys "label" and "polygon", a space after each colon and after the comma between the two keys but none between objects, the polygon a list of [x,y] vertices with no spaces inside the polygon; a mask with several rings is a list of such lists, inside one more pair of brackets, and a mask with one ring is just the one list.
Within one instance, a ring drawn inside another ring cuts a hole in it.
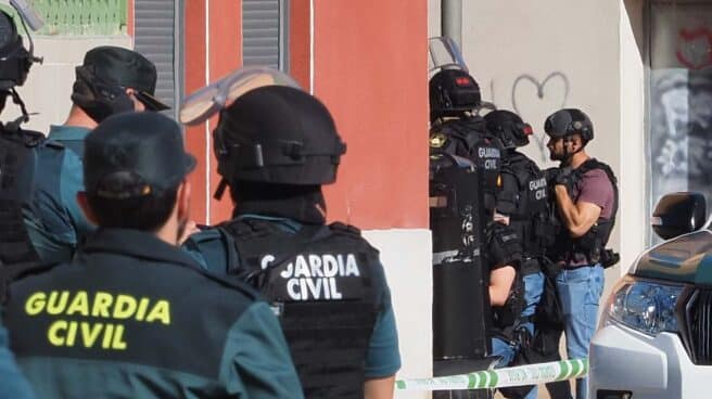
[{"label": "black cap on man with dark face covering", "polygon": [[155,65],[136,51],[115,46],[97,47],[85,54],[81,66],[91,68],[101,80],[136,90],[136,96],[148,110],[169,108],[154,95],[157,79]]}]

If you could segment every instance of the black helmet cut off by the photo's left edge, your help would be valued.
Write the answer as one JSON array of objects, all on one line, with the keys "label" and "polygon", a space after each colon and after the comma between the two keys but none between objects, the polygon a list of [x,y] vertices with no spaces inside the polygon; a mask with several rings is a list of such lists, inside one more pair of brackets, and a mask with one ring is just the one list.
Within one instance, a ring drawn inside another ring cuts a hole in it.
[{"label": "black helmet cut off by the photo's left edge", "polygon": [[23,46],[14,21],[0,11],[0,90],[22,86],[33,62],[33,54]]}]

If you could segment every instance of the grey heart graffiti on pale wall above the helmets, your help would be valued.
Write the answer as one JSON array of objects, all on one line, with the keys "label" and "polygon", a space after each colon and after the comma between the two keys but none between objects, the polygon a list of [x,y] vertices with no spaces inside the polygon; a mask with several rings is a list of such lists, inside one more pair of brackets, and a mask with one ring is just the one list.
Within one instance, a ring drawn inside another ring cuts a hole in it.
[{"label": "grey heart graffiti on pale wall above the helmets", "polygon": [[[559,85],[556,85],[557,81]],[[530,87],[530,89],[536,89],[534,93],[536,94],[537,100],[534,100],[534,98],[531,95],[533,92],[526,92],[526,87]],[[512,108],[524,120],[533,120],[531,119],[532,115],[537,115],[539,113],[534,114],[525,112],[522,110],[524,104],[527,104],[527,106],[534,105],[538,108],[542,108],[544,105],[543,103],[546,103],[546,110],[542,110],[545,113],[551,113],[556,110],[563,108],[567,104],[567,100],[569,99],[569,78],[562,72],[552,72],[542,81],[529,74],[520,75],[517,79],[514,79],[514,82],[512,83]],[[521,96],[527,94],[529,98],[526,101],[524,101],[524,99]],[[520,100],[518,101],[518,99]],[[539,157],[543,162],[546,162],[548,159],[548,152],[546,151],[546,142],[548,139],[546,134],[541,132],[538,134],[534,134],[532,138],[538,146]]]}]

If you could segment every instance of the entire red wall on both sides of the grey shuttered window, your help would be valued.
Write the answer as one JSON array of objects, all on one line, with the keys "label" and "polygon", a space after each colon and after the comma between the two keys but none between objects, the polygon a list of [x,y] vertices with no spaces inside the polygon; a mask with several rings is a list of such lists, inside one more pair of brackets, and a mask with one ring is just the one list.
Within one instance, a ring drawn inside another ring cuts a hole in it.
[{"label": "entire red wall on both sides of the grey shuttered window", "polygon": [[[209,1],[208,15],[205,1],[186,2],[187,93],[205,85],[206,68],[213,81],[241,62],[240,1]],[[428,228],[427,1],[293,0],[289,26],[290,72],[305,89],[314,85],[348,146],[338,183],[326,189],[330,219],[363,229]],[[194,218],[205,222],[209,206],[211,221],[225,220],[229,200],[205,200],[218,182],[214,159],[206,178],[205,127],[188,129],[187,145],[199,158]]]}]

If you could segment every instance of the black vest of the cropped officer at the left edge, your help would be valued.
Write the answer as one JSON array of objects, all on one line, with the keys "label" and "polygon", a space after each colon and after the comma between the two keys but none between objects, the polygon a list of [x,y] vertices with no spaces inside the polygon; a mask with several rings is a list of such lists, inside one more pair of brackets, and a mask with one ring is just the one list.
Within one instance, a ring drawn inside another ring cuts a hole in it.
[{"label": "black vest of the cropped officer at the left edge", "polygon": [[22,204],[31,195],[36,153],[44,136],[27,130],[0,131],[0,266],[38,260],[23,222]]}]

